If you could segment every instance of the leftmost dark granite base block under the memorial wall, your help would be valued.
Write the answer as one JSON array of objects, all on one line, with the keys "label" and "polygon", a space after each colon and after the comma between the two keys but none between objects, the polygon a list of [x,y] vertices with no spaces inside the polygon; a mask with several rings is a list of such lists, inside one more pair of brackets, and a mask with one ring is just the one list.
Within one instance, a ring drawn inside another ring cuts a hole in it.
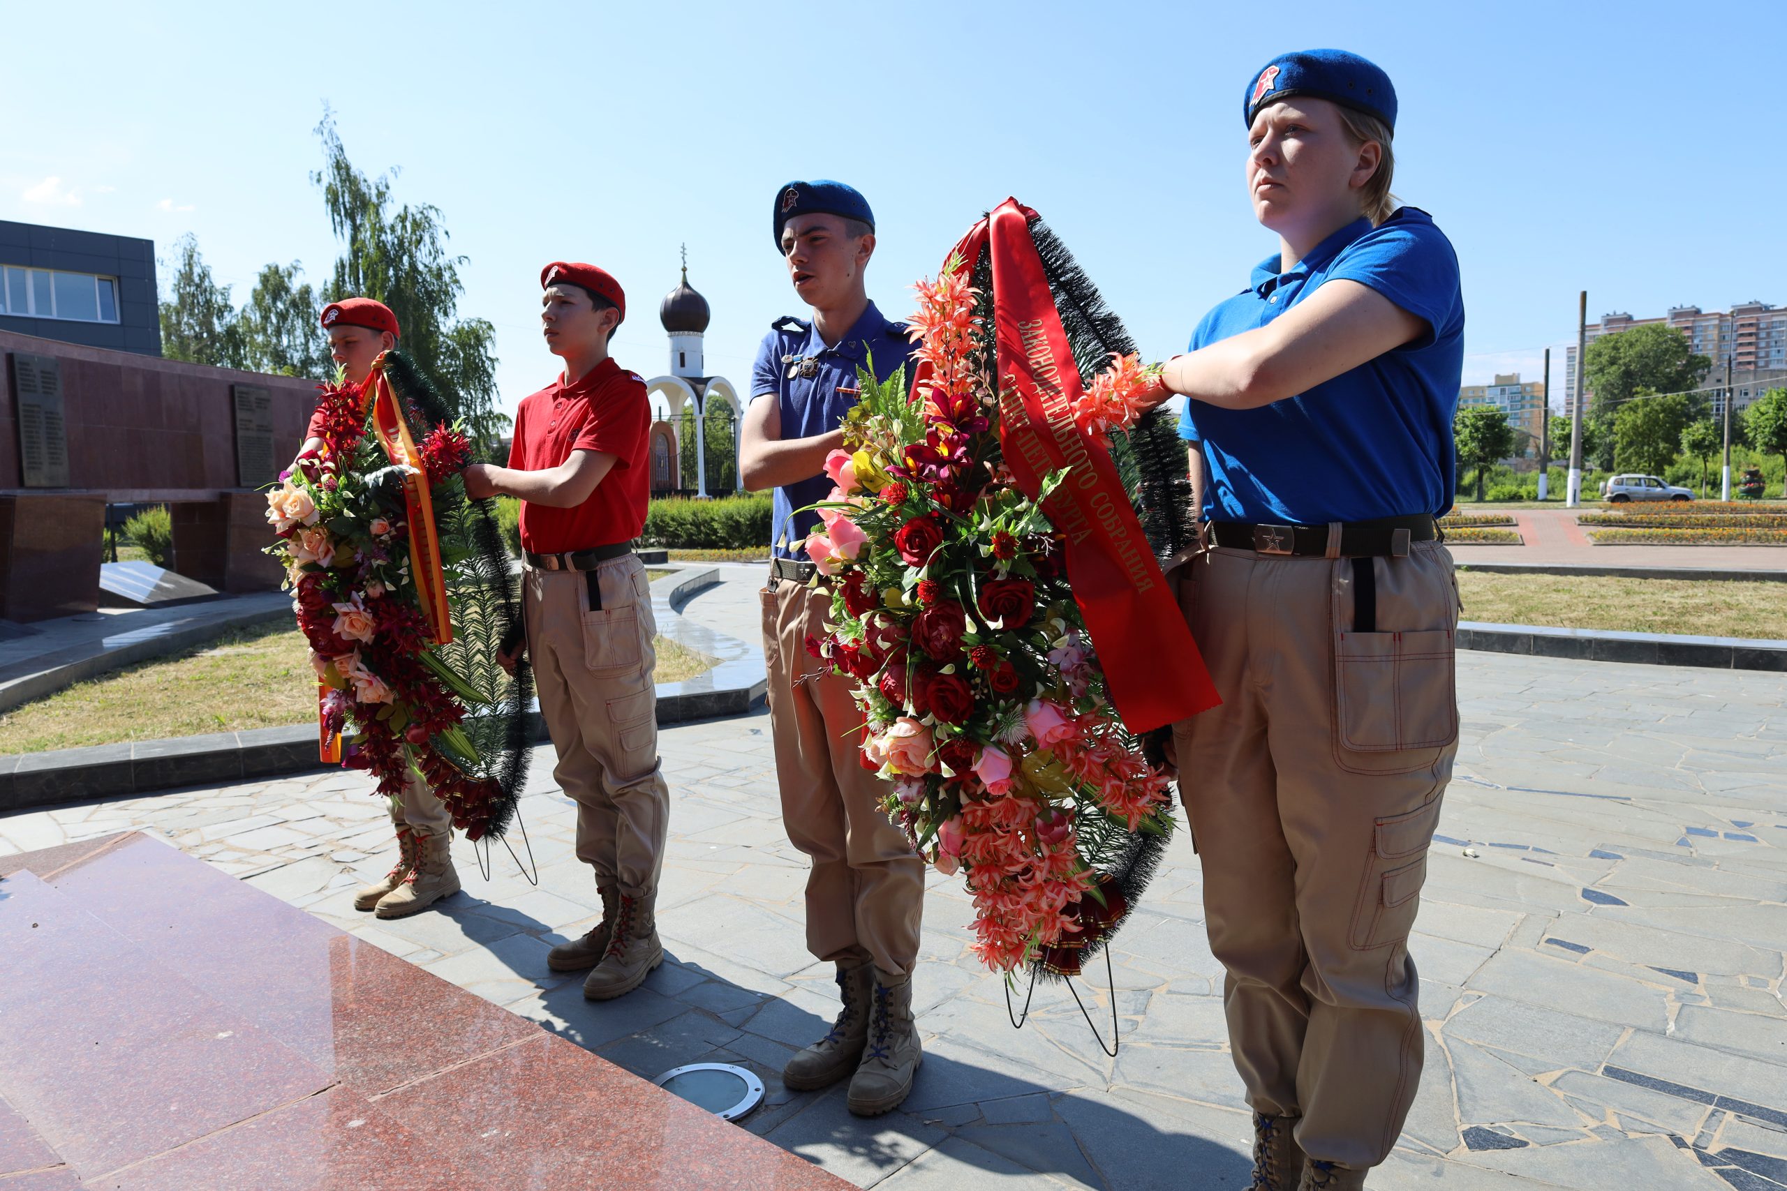
[{"label": "leftmost dark granite base block under the memorial wall", "polygon": [[95,611],[104,536],[102,495],[0,496],[0,620]]}]

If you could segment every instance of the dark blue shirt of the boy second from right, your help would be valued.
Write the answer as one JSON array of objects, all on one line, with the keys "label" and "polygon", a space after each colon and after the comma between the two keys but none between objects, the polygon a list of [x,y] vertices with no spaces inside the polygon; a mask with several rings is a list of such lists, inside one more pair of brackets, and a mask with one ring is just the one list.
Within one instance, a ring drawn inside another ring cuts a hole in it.
[{"label": "dark blue shirt of the boy second from right", "polygon": [[[874,302],[835,346],[826,346],[811,323],[783,318],[770,325],[770,334],[758,345],[758,359],[751,366],[751,400],[776,396],[784,439],[827,434],[842,425],[843,414],[860,396],[856,370],[868,368],[872,357],[876,379],[886,380],[906,362],[913,346],[906,337],[906,323],[881,318]],[[802,368],[806,361],[810,364]],[[795,509],[806,509],[829,493],[831,480],[824,473],[776,489],[770,520],[770,548],[776,557],[806,557],[801,545],[818,525],[818,514]]]}]

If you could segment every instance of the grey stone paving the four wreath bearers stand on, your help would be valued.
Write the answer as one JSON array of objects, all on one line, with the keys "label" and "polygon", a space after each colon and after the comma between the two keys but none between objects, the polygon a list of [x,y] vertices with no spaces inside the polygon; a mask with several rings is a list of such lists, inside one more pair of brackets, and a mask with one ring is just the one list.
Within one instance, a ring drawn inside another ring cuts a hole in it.
[{"label": "grey stone paving the four wreath bearers stand on", "polygon": [[[742,632],[754,575],[729,580],[690,612]],[[1462,654],[1458,680],[1458,777],[1412,939],[1428,1066],[1371,1186],[1787,1186],[1787,677]],[[399,921],[350,907],[390,839],[356,773],[21,812],[0,818],[0,850],[154,830],[640,1075],[752,1066],[767,1100],[742,1125],[860,1186],[1246,1186],[1249,1118],[1183,832],[1113,945],[1115,1059],[1060,986],[1011,1029],[967,950],[960,882],[933,875],[926,1062],[902,1111],[860,1121],[842,1087],[776,1079],[835,998],[802,943],[806,862],[783,836],[768,720],[670,727],[661,748],[670,962],[604,1005],[545,968],[599,905],[549,750],[524,800],[538,887],[500,846],[481,880],[461,843],[466,891]],[[1081,996],[1108,1036],[1103,989]]]}]

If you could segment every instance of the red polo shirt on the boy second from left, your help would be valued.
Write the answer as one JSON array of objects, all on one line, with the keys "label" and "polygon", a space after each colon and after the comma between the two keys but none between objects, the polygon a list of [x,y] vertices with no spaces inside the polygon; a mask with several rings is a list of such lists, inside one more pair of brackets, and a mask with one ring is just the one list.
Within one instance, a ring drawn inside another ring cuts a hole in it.
[{"label": "red polo shirt on the boy second from left", "polygon": [[509,466],[520,471],[556,468],[574,450],[606,450],[615,466],[575,509],[522,502],[522,548],[534,554],[593,550],[633,541],[645,529],[650,468],[645,443],[652,416],[645,382],[613,357],[577,384],[565,377],[522,398],[515,414]]}]

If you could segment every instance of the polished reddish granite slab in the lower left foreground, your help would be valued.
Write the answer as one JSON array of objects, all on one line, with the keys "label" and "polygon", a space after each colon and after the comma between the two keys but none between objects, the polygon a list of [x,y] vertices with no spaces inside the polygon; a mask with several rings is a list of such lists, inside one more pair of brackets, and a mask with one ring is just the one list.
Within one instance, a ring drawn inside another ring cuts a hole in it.
[{"label": "polished reddish granite slab in the lower left foreground", "polygon": [[0,1187],[845,1187],[127,832],[0,857]]}]

